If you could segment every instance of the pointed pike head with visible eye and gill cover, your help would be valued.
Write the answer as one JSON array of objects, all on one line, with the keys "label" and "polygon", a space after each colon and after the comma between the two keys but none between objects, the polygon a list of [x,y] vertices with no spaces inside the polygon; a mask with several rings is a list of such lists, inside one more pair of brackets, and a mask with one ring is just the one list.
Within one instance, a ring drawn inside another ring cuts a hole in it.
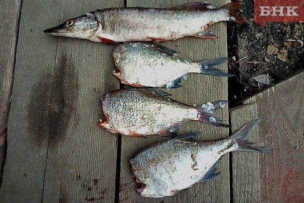
[{"label": "pointed pike head with visible eye and gill cover", "polygon": [[46,29],[43,32],[54,36],[66,36],[82,39],[90,39],[98,30],[99,23],[92,13],[71,18],[62,24]]}]

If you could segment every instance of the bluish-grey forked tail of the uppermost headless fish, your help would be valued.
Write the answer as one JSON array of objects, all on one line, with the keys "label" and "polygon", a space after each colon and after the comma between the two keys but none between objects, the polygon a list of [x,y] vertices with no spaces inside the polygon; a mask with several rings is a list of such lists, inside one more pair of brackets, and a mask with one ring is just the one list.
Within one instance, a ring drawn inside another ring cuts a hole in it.
[{"label": "bluish-grey forked tail of the uppermost headless fish", "polygon": [[201,60],[201,61],[197,61],[197,62],[200,63],[200,73],[203,73],[206,75],[221,76],[221,77],[234,76],[232,74],[226,73],[224,70],[213,67],[215,65],[225,63],[226,61],[227,61],[226,57],[220,57],[220,58]]}]

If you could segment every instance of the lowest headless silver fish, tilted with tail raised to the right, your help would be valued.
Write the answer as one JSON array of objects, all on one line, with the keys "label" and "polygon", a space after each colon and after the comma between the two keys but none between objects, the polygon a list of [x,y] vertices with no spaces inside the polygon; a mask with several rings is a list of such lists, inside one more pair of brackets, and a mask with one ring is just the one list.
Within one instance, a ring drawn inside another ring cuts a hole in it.
[{"label": "lowest headless silver fish, tilted with tail raised to the right", "polygon": [[151,198],[173,196],[219,175],[215,173],[218,160],[228,152],[271,152],[270,148],[252,147],[246,139],[259,122],[253,120],[223,140],[194,141],[196,133],[190,133],[139,150],[130,160],[132,174],[140,183],[137,192]]}]

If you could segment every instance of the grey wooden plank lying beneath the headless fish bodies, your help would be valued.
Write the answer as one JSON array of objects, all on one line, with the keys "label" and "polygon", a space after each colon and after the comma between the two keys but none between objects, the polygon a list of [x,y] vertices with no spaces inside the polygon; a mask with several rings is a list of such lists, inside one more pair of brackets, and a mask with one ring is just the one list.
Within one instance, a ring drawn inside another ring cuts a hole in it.
[{"label": "grey wooden plank lying beneath the headless fish bodies", "polygon": [[[193,0],[195,1],[195,0]],[[190,2],[190,1],[189,1]],[[185,3],[183,0],[174,1],[141,1],[128,0],[127,6],[152,6],[152,7],[171,7]],[[211,1],[214,6],[219,7],[226,3],[224,0]],[[147,22],[149,23],[149,22]],[[219,35],[219,39],[199,39],[194,37],[186,37],[176,41],[163,42],[162,45],[168,46],[182,52],[181,57],[191,60],[201,60],[212,57],[227,56],[226,43],[226,25],[225,23],[217,23],[210,26],[215,34]],[[216,47],[216,48],[214,48]],[[219,66],[227,70],[226,65]],[[172,98],[187,104],[202,104],[207,101],[227,100],[227,78],[212,77],[199,74],[190,74],[183,87],[170,90]],[[226,120],[228,123],[228,108],[218,110],[216,117]],[[214,140],[228,136],[228,129],[216,128],[199,122],[186,123],[180,133],[201,131],[204,132],[201,140]],[[159,136],[151,136],[149,139],[122,137],[122,153],[121,153],[121,181],[119,202],[227,202],[229,197],[229,155],[223,157],[220,162],[219,171],[221,175],[214,180],[203,184],[197,184],[191,189],[180,192],[171,198],[151,199],[143,198],[135,191],[135,186],[129,188],[133,182],[130,170],[131,156],[142,147],[163,140]]]}]

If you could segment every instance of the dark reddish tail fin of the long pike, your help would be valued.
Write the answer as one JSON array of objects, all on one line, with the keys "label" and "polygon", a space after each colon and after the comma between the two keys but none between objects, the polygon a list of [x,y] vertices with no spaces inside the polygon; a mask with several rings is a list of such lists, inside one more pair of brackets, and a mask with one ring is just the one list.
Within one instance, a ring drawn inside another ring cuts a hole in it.
[{"label": "dark reddish tail fin of the long pike", "polygon": [[228,10],[229,12],[229,20],[235,22],[247,22],[248,20],[240,14],[242,12],[243,2],[242,1],[234,1],[223,5],[220,9]]}]

